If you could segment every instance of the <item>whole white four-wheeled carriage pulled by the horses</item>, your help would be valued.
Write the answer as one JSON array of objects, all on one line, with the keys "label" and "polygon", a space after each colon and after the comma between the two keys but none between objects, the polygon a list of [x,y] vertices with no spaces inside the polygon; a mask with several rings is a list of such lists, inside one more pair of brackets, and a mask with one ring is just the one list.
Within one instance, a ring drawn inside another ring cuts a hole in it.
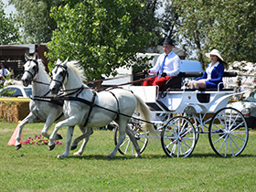
[{"label": "whole white four-wheeled carriage pulled by the horses", "polygon": [[[156,86],[130,87],[149,106],[153,115],[152,123],[161,135],[161,144],[166,155],[191,155],[199,133],[208,133],[209,143],[219,156],[237,156],[244,150],[249,137],[247,123],[241,112],[227,107],[229,97],[236,94],[235,91],[170,89],[162,92],[157,89]],[[154,136],[142,131],[143,123],[136,117],[139,114],[134,114],[130,125],[142,153],[148,139]],[[117,133],[118,128],[114,134],[115,143]],[[119,152],[125,155],[130,151],[135,154],[129,137],[126,137]]]}]

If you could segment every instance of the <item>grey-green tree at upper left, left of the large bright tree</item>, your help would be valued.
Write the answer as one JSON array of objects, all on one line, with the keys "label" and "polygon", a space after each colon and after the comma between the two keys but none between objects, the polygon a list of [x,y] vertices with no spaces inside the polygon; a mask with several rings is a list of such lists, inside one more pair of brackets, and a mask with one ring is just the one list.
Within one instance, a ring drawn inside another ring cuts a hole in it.
[{"label": "grey-green tree at upper left, left of the large bright tree", "polygon": [[57,27],[49,11],[53,5],[63,5],[62,0],[10,0],[16,7],[17,20],[21,28],[21,43],[47,43]]}]

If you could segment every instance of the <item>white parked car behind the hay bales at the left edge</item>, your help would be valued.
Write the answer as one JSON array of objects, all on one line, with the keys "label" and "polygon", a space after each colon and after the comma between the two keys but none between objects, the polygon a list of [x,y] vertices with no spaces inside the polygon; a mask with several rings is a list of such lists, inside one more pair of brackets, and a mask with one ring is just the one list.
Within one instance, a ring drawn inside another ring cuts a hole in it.
[{"label": "white parked car behind the hay bales at the left edge", "polygon": [[0,97],[29,97],[32,94],[32,87],[23,85],[9,85],[0,91]]}]

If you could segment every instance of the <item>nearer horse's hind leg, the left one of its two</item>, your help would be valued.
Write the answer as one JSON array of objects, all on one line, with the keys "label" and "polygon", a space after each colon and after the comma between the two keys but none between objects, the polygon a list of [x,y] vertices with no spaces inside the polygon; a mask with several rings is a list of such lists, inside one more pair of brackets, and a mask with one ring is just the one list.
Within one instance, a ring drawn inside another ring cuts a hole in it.
[{"label": "nearer horse's hind leg, the left one of its two", "polygon": [[106,157],[112,158],[116,155],[117,150],[119,149],[120,145],[123,144],[123,140],[125,138],[125,132],[126,132],[126,124],[128,123],[128,120],[119,120],[119,137],[118,142],[115,145],[115,148],[113,149],[112,153],[107,155]]}]

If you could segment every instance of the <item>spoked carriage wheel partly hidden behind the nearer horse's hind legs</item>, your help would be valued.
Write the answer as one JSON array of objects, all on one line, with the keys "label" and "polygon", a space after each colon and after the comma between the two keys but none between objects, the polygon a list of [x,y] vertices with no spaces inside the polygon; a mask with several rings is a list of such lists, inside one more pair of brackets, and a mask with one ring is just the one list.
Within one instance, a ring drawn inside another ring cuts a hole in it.
[{"label": "spoked carriage wheel partly hidden behind the nearer horse's hind legs", "polygon": [[[144,131],[141,129],[140,125],[131,125],[131,129],[133,130],[133,134],[135,136],[135,139],[137,140],[137,143],[140,146],[140,153],[142,154],[144,152],[144,149],[146,147],[146,144],[148,143],[148,133],[144,133]],[[116,126],[114,129],[114,144],[116,145],[118,142],[118,135],[119,135],[119,127]],[[125,133],[125,139],[123,141],[123,144],[120,145],[118,151],[122,155],[136,155],[136,150],[134,148],[133,142],[131,141],[130,137]]]}]

